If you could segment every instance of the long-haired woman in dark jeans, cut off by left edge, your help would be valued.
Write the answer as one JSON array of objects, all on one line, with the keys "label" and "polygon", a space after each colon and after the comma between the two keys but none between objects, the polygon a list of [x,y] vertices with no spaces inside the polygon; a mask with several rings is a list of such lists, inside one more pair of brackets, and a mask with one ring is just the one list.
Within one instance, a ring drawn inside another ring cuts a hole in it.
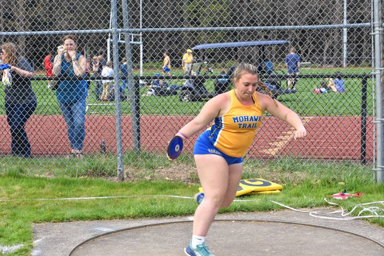
[{"label": "long-haired woman in dark jeans, cut off by left edge", "polygon": [[5,111],[11,130],[11,151],[14,156],[30,157],[31,145],[25,124],[36,109],[36,94],[31,87],[33,69],[30,63],[17,54],[16,46],[10,42],[2,45],[1,58],[10,66],[3,70],[5,84]]}]

